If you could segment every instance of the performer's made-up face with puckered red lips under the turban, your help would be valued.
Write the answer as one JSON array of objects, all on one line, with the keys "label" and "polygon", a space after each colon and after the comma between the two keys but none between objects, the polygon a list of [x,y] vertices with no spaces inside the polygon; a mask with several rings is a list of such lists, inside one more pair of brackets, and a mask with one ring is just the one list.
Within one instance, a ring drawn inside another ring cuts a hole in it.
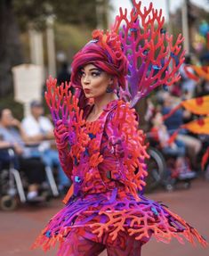
[{"label": "performer's made-up face with puckered red lips under the turban", "polygon": [[92,64],[87,64],[81,70],[81,85],[86,98],[97,98],[105,95],[111,83],[111,76]]}]

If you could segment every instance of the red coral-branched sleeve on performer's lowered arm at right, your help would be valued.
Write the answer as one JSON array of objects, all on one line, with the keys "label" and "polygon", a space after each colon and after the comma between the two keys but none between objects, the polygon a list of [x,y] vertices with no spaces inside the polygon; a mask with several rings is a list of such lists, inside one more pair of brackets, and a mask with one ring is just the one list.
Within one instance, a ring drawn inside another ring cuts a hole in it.
[{"label": "red coral-branched sleeve on performer's lowered arm at right", "polygon": [[[149,155],[146,152],[145,136],[142,130],[138,129],[136,118],[137,114],[130,108],[129,103],[119,101],[116,110],[109,117],[106,132],[109,138],[114,137],[115,141],[119,141],[123,149],[120,155],[113,150],[120,168],[113,169],[111,176],[119,178],[125,184],[125,190],[137,198],[137,194],[145,186],[144,179],[147,176],[145,159],[149,158]],[[109,145],[111,150],[112,143]]]}]

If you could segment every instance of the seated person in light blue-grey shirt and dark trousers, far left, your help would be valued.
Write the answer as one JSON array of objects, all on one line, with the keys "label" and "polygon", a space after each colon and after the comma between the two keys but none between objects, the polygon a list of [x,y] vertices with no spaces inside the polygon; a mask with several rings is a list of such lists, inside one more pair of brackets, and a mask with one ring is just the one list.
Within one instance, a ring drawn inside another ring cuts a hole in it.
[{"label": "seated person in light blue-grey shirt and dark trousers, far left", "polygon": [[[29,143],[28,137],[24,134],[20,121],[13,118],[10,109],[0,109],[1,167],[8,166],[12,161],[14,168],[24,172],[28,180],[27,200],[42,202],[45,198],[38,192],[45,180],[44,163],[39,158],[31,156],[30,148],[25,146],[27,143]],[[12,157],[8,153],[9,148],[14,152]]]}]

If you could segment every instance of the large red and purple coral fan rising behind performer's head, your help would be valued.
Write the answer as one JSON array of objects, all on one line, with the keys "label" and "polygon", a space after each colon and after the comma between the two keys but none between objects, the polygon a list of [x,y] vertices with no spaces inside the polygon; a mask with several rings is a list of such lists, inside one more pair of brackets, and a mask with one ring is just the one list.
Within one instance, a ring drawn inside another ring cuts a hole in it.
[{"label": "large red and purple coral fan rising behind performer's head", "polygon": [[141,2],[133,0],[134,8],[129,15],[127,10],[117,16],[113,31],[119,30],[120,40],[128,58],[128,83],[120,88],[120,95],[125,101],[135,105],[142,97],[159,86],[171,86],[181,76],[178,72],[184,61],[181,34],[174,42],[163,28],[165,18],[162,10],[158,11],[149,4],[142,11]]}]

